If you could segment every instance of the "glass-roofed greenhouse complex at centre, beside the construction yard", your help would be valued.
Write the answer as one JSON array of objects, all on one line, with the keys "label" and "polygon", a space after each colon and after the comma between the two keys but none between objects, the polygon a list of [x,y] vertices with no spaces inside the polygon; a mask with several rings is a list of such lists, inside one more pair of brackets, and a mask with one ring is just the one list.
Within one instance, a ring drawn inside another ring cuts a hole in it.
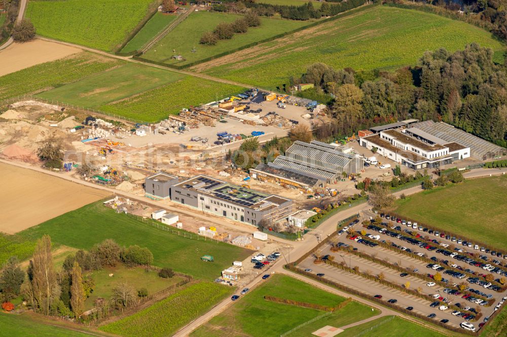
[{"label": "glass-roofed greenhouse complex at centre, beside the construction yard", "polygon": [[253,178],[285,184],[300,190],[311,190],[335,183],[345,172],[359,173],[363,159],[342,152],[342,148],[317,141],[296,141],[272,163],[250,170]]}]

